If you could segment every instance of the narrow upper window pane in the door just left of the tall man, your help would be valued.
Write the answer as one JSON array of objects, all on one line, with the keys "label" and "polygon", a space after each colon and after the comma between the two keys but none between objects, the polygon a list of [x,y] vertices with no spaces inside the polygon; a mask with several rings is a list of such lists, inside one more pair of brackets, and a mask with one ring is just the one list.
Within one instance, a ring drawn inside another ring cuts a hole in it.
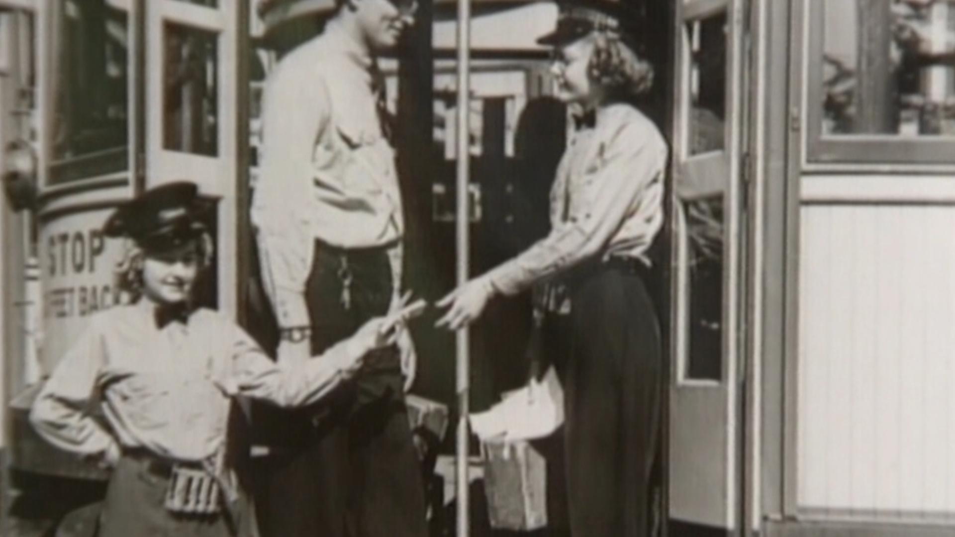
[{"label": "narrow upper window pane in the door just left of the tall man", "polygon": [[162,146],[214,157],[219,146],[218,34],[166,24]]}]

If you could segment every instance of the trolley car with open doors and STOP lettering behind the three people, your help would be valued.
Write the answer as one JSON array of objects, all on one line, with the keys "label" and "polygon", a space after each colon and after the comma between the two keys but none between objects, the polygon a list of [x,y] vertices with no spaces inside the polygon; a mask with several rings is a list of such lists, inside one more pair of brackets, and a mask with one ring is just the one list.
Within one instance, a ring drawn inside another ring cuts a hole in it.
[{"label": "trolley car with open doors and STOP lettering behind the three people", "polygon": [[[475,3],[470,87],[453,76],[450,2],[424,3],[385,62],[412,285],[431,297],[454,284],[455,223],[470,223],[477,271],[531,240],[521,233],[533,211],[515,192],[541,191],[523,179],[521,143],[535,141],[518,131],[549,93],[546,51],[527,32],[556,11],[460,1]],[[659,290],[664,530],[951,534],[955,2],[633,1],[658,43],[648,106],[672,147]],[[99,471],[43,444],[26,413],[88,315],[117,300],[117,245],[98,229],[118,202],[199,183],[218,201],[203,300],[258,322],[248,223],[258,98],[275,59],[330,5],[0,0],[5,498],[45,487],[52,519],[96,500]],[[470,97],[456,104],[461,91]],[[471,103],[466,130],[460,102]],[[562,114],[535,119],[559,126],[549,129],[556,153]],[[453,179],[460,148],[466,193]],[[476,406],[518,376],[493,359],[520,353],[496,346],[494,322],[468,348]],[[415,338],[415,390],[452,402],[451,336],[420,328]]]}]

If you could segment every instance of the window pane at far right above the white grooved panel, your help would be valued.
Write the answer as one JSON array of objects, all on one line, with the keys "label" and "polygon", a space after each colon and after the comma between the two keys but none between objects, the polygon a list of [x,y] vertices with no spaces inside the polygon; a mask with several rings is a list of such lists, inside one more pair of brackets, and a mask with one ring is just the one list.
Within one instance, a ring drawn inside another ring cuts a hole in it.
[{"label": "window pane at far right above the white grooved panel", "polygon": [[823,135],[955,135],[955,1],[825,0]]}]

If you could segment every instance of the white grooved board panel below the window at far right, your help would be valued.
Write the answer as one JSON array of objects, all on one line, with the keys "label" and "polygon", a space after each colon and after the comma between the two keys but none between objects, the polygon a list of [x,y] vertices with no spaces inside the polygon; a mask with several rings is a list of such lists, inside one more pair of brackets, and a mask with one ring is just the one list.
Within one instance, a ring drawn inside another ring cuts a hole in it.
[{"label": "white grooved board panel below the window at far right", "polygon": [[955,513],[955,206],[801,209],[797,501]]}]

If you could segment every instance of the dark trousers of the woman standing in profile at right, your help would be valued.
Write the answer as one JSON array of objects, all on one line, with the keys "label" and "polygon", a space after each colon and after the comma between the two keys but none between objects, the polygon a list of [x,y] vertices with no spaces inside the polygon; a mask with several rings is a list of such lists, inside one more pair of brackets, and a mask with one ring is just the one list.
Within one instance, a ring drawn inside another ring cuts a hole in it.
[{"label": "dark trousers of the woman standing in profile at right", "polygon": [[602,265],[571,288],[545,337],[566,352],[564,441],[574,537],[643,537],[663,392],[660,330],[643,278]]}]

